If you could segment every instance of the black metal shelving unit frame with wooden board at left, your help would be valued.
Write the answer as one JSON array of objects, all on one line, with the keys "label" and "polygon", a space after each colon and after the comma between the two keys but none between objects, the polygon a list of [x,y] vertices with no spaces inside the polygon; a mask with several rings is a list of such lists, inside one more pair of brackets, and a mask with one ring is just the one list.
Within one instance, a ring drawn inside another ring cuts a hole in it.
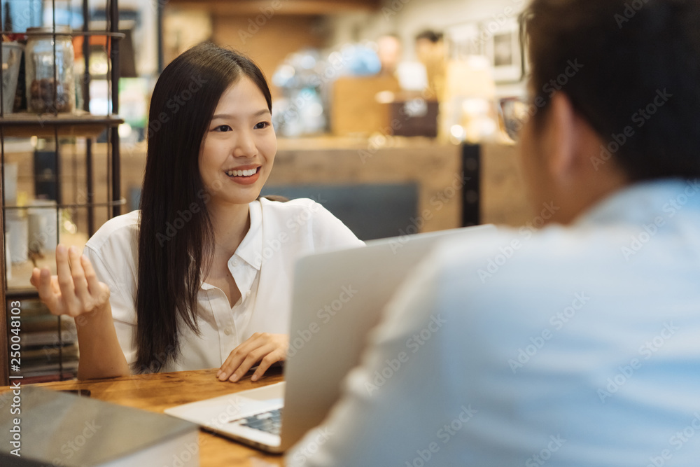
[{"label": "black metal shelving unit frame with wooden board at left", "polygon": [[[10,0],[0,0],[0,12],[6,12],[6,4]],[[72,2],[69,3],[69,6]],[[56,33],[56,0],[50,2],[52,8],[52,31],[53,36],[61,35]],[[59,235],[61,228],[62,209],[85,209],[87,215],[87,237],[92,236],[96,230],[95,212],[97,209],[106,209],[107,218],[118,216],[121,214],[121,207],[125,204],[125,200],[120,192],[120,144],[118,126],[123,123],[119,118],[119,40],[123,38],[123,34],[118,31],[119,27],[119,9],[118,0],[105,0],[106,13],[106,29],[91,30],[90,29],[90,5],[88,0],[82,1],[82,16],[83,28],[80,31],[74,31],[72,36],[83,36],[83,60],[85,62],[85,72],[82,76],[82,92],[83,92],[83,109],[73,113],[45,113],[34,114],[27,112],[8,113],[3,109],[2,90],[0,86],[0,160],[2,162],[2,180],[4,180],[4,172],[6,167],[6,139],[8,137],[42,137],[53,139],[55,141],[54,162],[56,172],[54,174],[56,190],[56,219],[55,235]],[[3,23],[4,24],[4,23]],[[3,31],[2,34],[18,33],[15,31]],[[22,32],[20,32],[22,33]],[[106,37],[106,56],[107,56],[107,86],[109,92],[108,114],[92,115],[90,114],[90,82],[92,76],[90,74],[90,36]],[[55,43],[55,41],[54,41]],[[2,62],[2,48],[0,47],[0,63]],[[54,69],[57,67],[56,48],[54,46]],[[56,72],[55,72],[56,73]],[[3,70],[0,67],[0,83],[3,82]],[[57,99],[57,92],[54,92],[54,99]],[[54,105],[54,108],[56,105]],[[99,134],[104,134],[106,130],[107,138],[107,154],[106,154],[106,179],[99,182],[98,188],[106,189],[106,202],[95,201],[95,140]],[[62,181],[61,173],[62,154],[61,144],[59,140],[66,137],[84,137],[85,138],[85,197],[82,200],[63,200],[62,199]],[[102,184],[104,183],[104,185]],[[11,206],[6,203],[6,197],[2,193],[2,222],[3,232],[6,232],[6,213],[10,209],[24,209],[23,207]],[[97,226],[99,227],[99,226]],[[2,324],[8,324],[8,310],[10,309],[10,301],[14,300],[38,300],[38,293],[33,288],[8,288],[7,274],[4,270],[5,265],[5,245],[4,235],[0,239],[0,249],[2,252],[2,266],[0,271],[3,272],[3,291],[5,298],[3,300],[3,309],[0,319]],[[27,281],[28,283],[28,281]],[[28,285],[28,284],[27,284]],[[48,313],[48,310],[47,310]],[[57,321],[57,340],[59,343],[59,351],[62,349],[62,324]],[[8,384],[8,377],[13,374],[9,365],[8,354],[8,328],[0,325],[0,385]],[[63,356],[59,354],[59,368],[57,373],[59,378],[64,376],[63,371]]]}]

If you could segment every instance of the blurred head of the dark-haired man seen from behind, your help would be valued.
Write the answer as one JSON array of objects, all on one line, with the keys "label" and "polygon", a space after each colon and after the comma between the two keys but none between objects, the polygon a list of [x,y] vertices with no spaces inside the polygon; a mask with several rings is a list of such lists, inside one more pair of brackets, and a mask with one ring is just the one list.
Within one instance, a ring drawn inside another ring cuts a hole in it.
[{"label": "blurred head of the dark-haired man seen from behind", "polygon": [[533,0],[522,23],[536,204],[567,223],[626,183],[700,176],[699,1]]}]

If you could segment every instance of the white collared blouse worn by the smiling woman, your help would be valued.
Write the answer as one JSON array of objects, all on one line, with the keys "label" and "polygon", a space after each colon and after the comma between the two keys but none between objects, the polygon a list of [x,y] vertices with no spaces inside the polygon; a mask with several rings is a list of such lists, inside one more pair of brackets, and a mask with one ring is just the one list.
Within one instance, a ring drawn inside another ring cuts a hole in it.
[{"label": "white collared blouse worn by the smiling woman", "polygon": [[[139,213],[112,218],[85,245],[83,254],[109,286],[114,327],[127,363],[136,361],[136,294]],[[181,358],[163,371],[216,368],[253,333],[288,334],[295,259],[330,247],[362,246],[341,221],[308,199],[250,204],[251,228],[228,268],[241,291],[231,307],[225,293],[202,282],[197,295],[200,335],[181,329]]]}]

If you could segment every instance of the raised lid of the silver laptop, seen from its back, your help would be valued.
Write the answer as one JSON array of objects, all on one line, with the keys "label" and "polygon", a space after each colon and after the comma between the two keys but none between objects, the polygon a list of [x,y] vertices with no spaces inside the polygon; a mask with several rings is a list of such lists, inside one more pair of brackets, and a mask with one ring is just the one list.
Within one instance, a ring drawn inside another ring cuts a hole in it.
[{"label": "raised lid of the silver laptop, seen from its back", "polygon": [[364,248],[316,253],[295,265],[280,451],[325,418],[367,333],[409,270],[446,238],[495,232],[493,225],[372,240]]}]

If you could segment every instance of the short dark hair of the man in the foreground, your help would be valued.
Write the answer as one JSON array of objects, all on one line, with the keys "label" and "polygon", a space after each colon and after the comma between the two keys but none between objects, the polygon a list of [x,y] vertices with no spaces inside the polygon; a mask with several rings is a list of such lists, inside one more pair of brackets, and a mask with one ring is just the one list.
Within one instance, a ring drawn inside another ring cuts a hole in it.
[{"label": "short dark hair of the man in the foreground", "polygon": [[535,102],[564,92],[601,161],[633,181],[700,176],[700,1],[533,0],[521,22]]}]

